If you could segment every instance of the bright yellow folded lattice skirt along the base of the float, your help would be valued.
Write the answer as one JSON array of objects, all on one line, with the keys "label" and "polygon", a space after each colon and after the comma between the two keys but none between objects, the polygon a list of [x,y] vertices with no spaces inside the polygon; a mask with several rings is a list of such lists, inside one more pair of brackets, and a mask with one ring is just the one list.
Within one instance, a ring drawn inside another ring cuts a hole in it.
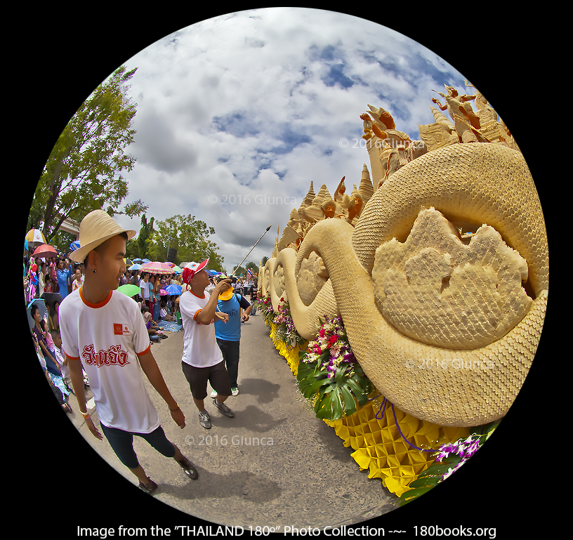
[{"label": "bright yellow folded lattice skirt along the base of the float", "polygon": [[[270,337],[279,354],[286,359],[291,371],[296,376],[298,372],[298,352],[301,348],[296,345],[289,349],[275,338],[275,324],[270,324]],[[369,395],[369,401],[364,407],[342,419],[324,420],[336,435],[341,437],[345,447],[352,447],[355,452],[350,454],[361,470],[369,469],[368,478],[381,478],[388,491],[402,495],[409,489],[410,482],[426,470],[434,461],[435,454],[421,452],[404,441],[396,423],[390,403],[386,404],[383,413],[376,414],[383,402],[383,396],[374,389]],[[419,420],[394,407],[396,419],[404,437],[420,448],[437,449],[441,444],[454,442],[469,435],[468,428],[449,428],[437,426],[435,423]]]}]

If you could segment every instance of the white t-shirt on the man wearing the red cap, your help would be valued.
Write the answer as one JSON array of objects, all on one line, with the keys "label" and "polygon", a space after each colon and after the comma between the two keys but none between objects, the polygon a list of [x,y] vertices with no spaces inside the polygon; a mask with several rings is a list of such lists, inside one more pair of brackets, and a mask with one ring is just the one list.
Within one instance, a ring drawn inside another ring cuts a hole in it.
[{"label": "white t-shirt on the man wearing the red cap", "polygon": [[[120,293],[121,294],[121,293]],[[201,324],[195,319],[209,302],[209,293],[203,298],[186,291],[179,297],[179,310],[183,322],[183,357],[185,364],[209,367],[223,362],[223,355],[215,339],[215,325]]]}]

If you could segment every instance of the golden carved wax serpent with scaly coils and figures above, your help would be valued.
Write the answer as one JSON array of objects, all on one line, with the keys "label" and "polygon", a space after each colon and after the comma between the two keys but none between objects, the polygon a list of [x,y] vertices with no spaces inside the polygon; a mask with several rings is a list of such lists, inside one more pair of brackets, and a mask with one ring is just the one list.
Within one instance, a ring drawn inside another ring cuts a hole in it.
[{"label": "golden carved wax serpent with scaly coils and figures above", "polygon": [[[275,310],[288,299],[304,338],[315,336],[320,318],[341,315],[365,374],[397,407],[441,426],[479,426],[506,414],[534,359],[548,244],[513,137],[481,94],[483,114],[475,114],[468,96],[447,89],[449,107],[461,108],[454,122],[435,111],[421,141],[369,106],[374,119],[360,118],[374,132],[374,193],[352,223],[298,223],[301,238],[275,248],[259,279]],[[376,162],[388,150],[374,147],[380,121],[382,136],[422,143],[409,154],[393,147],[400,159],[391,174]]]}]

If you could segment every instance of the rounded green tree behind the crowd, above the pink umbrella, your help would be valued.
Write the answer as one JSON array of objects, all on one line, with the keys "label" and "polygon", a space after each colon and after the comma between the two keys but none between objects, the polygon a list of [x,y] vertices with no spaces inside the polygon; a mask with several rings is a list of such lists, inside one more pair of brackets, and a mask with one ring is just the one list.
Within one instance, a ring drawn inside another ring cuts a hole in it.
[{"label": "rounded green tree behind the crowd, above the pink umbrella", "polygon": [[199,262],[209,257],[209,268],[222,270],[223,257],[217,253],[217,244],[209,239],[215,234],[215,229],[208,227],[204,221],[195,219],[195,216],[178,214],[155,224],[157,231],[150,238],[147,250],[147,257],[152,261],[166,261],[169,245],[177,250],[176,260],[172,263]]}]

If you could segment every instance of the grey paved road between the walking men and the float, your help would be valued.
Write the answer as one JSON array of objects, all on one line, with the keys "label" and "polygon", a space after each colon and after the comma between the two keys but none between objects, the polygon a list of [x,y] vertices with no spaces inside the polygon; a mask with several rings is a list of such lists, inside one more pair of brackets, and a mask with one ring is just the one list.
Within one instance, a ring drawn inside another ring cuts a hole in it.
[{"label": "grey paved road between the walking men and the float", "polygon": [[[211,430],[199,425],[180,367],[182,350],[183,331],[152,345],[166,383],[185,414],[183,430],[145,381],[167,437],[195,463],[199,479],[188,480],[173,460],[135,437],[140,463],[159,485],[156,499],[215,524],[245,528],[338,527],[395,508],[397,497],[389,494],[380,479],[369,480],[367,471],[360,471],[350,457],[353,450],[345,448],[334,429],[315,417],[298,392],[286,360],[272,345],[261,315],[242,325],[240,393],[227,401],[236,416],[229,419],[219,414],[207,397]],[[135,477],[119,462],[107,440],[100,442],[88,432],[75,412],[73,396],[71,403],[71,419],[79,432],[135,484]]]}]

